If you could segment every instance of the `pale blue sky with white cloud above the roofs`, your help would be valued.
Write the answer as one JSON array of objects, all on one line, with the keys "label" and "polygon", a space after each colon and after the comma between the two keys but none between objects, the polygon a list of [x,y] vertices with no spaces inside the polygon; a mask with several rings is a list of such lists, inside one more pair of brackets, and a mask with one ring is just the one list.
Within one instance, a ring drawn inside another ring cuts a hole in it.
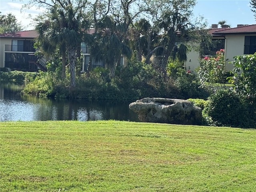
[{"label": "pale blue sky with white cloud above the roofs", "polygon": [[[34,29],[32,19],[29,16],[36,17],[42,12],[36,8],[24,10],[20,9],[28,0],[0,0],[1,14],[12,13],[16,16],[18,22],[24,26],[24,30]],[[203,16],[204,20],[211,24],[218,24],[221,20],[226,20],[226,24],[236,27],[237,24],[256,24],[254,13],[250,8],[250,0],[197,0],[193,9],[194,17]]]}]

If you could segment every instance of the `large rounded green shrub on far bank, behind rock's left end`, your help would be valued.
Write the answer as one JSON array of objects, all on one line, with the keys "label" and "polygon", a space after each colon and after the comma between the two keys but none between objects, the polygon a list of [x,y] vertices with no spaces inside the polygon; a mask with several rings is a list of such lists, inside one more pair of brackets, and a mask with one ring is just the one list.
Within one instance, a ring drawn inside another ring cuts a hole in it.
[{"label": "large rounded green shrub on far bank, behind rock's left end", "polygon": [[129,61],[127,66],[116,72],[113,83],[123,90],[124,94],[134,99],[143,97],[172,98],[176,90],[170,78],[162,78],[151,64]]}]

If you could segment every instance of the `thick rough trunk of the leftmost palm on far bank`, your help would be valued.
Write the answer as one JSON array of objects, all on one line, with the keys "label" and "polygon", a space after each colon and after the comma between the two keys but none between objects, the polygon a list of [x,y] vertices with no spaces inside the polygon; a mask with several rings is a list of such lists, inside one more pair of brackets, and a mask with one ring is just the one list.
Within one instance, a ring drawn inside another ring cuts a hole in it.
[{"label": "thick rough trunk of the leftmost palm on far bank", "polygon": [[76,62],[76,48],[74,46],[68,46],[68,58],[70,68],[70,88],[76,86],[76,73],[75,73],[75,62]]}]

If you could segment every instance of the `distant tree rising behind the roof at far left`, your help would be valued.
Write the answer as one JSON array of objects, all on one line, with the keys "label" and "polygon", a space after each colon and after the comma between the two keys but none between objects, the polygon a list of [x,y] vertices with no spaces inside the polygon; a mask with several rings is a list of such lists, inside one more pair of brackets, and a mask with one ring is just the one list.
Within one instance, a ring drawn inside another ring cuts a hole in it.
[{"label": "distant tree rising behind the roof at far left", "polygon": [[22,30],[23,26],[17,21],[15,15],[12,13],[4,15],[0,12],[0,33],[11,33]]}]

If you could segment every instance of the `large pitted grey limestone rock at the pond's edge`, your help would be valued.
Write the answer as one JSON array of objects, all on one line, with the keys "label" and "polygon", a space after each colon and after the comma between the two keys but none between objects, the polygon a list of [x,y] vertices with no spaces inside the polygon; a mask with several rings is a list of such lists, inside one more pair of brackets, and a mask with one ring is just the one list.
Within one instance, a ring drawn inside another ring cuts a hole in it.
[{"label": "large pitted grey limestone rock at the pond's edge", "polygon": [[202,110],[192,102],[181,99],[143,98],[129,104],[142,122],[199,125]]}]

